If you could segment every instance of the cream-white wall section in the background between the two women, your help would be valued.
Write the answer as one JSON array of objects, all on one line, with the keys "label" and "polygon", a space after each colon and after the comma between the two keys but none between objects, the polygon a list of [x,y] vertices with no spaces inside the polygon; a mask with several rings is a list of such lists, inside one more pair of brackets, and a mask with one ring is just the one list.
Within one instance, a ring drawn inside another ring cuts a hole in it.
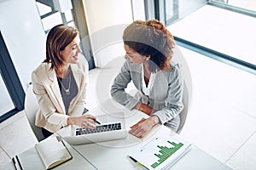
[{"label": "cream-white wall section in the background between the two women", "polygon": [[122,34],[132,22],[130,0],[84,0],[91,48],[96,67],[125,55]]}]

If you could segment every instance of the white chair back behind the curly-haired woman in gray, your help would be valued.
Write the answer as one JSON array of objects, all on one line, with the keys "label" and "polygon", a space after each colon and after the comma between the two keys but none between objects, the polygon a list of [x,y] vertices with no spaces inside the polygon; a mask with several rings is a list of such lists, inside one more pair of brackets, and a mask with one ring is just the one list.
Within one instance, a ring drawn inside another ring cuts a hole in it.
[{"label": "white chair back behind the curly-haired woman in gray", "polygon": [[179,114],[180,116],[180,124],[179,127],[177,129],[177,133],[181,133],[183,126],[186,122],[187,119],[187,115],[189,112],[189,108],[191,105],[191,101],[192,101],[192,78],[191,78],[191,74],[189,71],[189,65],[186,62],[186,60],[184,59],[183,54],[181,53],[180,49],[175,46],[175,48],[173,48],[173,57],[172,57],[172,61],[179,63],[182,65],[181,71],[182,71],[182,76],[183,76],[183,111]]}]

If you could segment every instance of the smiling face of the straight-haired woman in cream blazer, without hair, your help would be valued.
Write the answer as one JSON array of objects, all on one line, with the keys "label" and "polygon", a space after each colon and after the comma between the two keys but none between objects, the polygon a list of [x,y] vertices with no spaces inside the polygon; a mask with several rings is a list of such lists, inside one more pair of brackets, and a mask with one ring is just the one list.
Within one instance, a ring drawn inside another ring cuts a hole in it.
[{"label": "smiling face of the straight-haired woman in cream blazer, without hair", "polygon": [[60,52],[64,63],[78,63],[78,55],[82,52],[81,48],[79,47],[79,43],[80,38],[77,36],[73,39],[73,42],[69,43],[67,47]]}]

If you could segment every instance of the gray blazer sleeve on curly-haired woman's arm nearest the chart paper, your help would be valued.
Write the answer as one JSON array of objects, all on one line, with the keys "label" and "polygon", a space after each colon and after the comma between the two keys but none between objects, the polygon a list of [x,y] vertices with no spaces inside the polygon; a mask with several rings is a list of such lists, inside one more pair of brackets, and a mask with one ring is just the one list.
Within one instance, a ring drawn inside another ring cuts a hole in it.
[{"label": "gray blazer sleeve on curly-haired woman's arm nearest the chart paper", "polygon": [[168,83],[168,95],[164,107],[152,114],[159,117],[161,124],[170,121],[183,111],[183,77],[180,65],[172,65]]}]

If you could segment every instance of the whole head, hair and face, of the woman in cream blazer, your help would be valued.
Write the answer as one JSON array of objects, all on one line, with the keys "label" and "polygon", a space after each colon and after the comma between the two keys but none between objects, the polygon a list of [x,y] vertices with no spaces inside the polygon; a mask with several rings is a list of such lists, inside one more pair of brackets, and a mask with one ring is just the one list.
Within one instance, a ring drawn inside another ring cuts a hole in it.
[{"label": "whole head, hair and face, of the woman in cream blazer", "polygon": [[51,63],[50,69],[55,71],[67,70],[69,64],[78,63],[79,31],[66,25],[57,25],[50,29],[46,39],[46,59]]}]

